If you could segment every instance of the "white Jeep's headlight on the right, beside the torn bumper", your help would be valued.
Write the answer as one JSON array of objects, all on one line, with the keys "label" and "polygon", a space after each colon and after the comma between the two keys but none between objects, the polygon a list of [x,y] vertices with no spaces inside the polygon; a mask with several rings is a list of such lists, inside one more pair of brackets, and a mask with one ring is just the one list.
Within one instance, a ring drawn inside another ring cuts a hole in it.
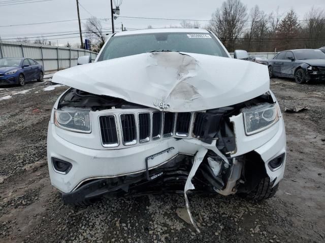
[{"label": "white Jeep's headlight on the right, beside the torn bumper", "polygon": [[271,127],[281,116],[280,108],[276,103],[265,103],[251,108],[244,108],[242,113],[247,135],[252,135]]}]

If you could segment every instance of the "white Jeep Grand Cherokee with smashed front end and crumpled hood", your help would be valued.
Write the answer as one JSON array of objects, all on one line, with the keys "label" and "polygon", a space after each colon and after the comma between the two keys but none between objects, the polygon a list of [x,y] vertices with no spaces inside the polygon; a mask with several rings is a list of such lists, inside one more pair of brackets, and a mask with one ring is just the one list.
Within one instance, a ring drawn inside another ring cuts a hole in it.
[{"label": "white Jeep Grand Cherokee with smashed front end and crumpled hood", "polygon": [[187,190],[261,200],[283,177],[284,123],[267,66],[231,58],[208,30],[115,33],[95,63],[53,82],[71,87],[47,139],[66,204],[181,191],[188,208]]}]

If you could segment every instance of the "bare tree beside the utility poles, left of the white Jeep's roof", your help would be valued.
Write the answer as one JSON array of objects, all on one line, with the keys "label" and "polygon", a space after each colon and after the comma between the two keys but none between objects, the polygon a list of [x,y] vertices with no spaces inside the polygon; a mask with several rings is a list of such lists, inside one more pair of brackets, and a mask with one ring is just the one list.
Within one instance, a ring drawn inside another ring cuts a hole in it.
[{"label": "bare tree beside the utility poles, left of the white Jeep's roof", "polygon": [[105,34],[103,33],[103,27],[101,21],[95,17],[87,19],[84,25],[87,32],[87,36],[92,39],[92,50],[99,52],[105,44]]}]

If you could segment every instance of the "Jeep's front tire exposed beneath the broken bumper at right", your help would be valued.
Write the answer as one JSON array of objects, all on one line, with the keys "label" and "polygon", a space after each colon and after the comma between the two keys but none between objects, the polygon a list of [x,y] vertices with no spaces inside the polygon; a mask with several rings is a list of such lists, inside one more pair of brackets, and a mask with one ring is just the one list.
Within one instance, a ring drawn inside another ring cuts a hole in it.
[{"label": "Jeep's front tire exposed beneath the broken bumper at right", "polygon": [[255,201],[262,201],[269,199],[275,195],[278,190],[279,183],[273,186],[274,182],[270,181],[269,177],[262,179],[256,188],[247,194],[243,194],[242,197]]}]

